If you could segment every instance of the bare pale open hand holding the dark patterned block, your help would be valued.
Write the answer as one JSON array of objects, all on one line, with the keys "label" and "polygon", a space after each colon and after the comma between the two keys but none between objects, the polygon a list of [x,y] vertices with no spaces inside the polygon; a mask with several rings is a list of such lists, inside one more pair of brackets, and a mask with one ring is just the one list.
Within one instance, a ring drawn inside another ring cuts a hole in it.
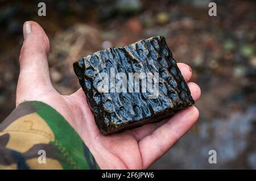
[{"label": "bare pale open hand holding the dark patterned block", "polygon": [[[80,135],[101,169],[147,169],[187,133],[199,117],[197,108],[191,106],[159,123],[103,136],[81,88],[71,95],[61,95],[53,88],[47,60],[49,40],[43,28],[36,22],[26,22],[23,35],[16,106],[38,100],[55,108]],[[177,65],[188,82],[191,68],[182,63]],[[192,82],[188,82],[188,86],[197,101],[201,94],[199,86]]]}]

